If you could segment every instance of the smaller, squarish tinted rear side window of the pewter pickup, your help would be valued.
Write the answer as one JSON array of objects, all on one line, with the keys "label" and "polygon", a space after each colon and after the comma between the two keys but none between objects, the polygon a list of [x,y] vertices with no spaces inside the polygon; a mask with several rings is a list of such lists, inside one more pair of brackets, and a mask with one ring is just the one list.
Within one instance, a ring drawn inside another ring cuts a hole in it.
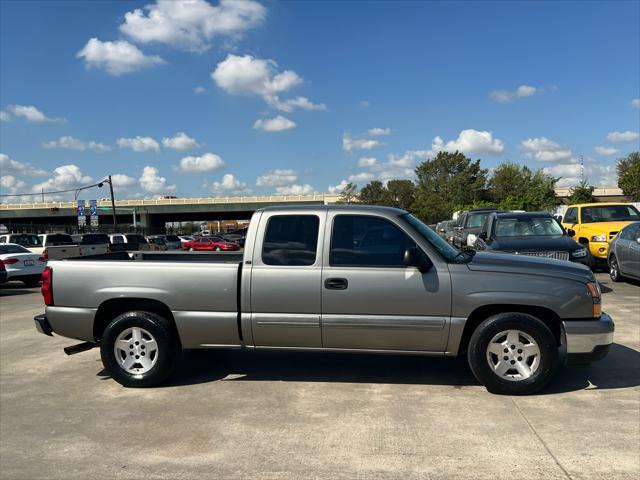
[{"label": "smaller, squarish tinted rear side window of the pewter pickup", "polygon": [[318,249],[320,219],[316,215],[274,215],[262,244],[266,265],[313,265]]}]

